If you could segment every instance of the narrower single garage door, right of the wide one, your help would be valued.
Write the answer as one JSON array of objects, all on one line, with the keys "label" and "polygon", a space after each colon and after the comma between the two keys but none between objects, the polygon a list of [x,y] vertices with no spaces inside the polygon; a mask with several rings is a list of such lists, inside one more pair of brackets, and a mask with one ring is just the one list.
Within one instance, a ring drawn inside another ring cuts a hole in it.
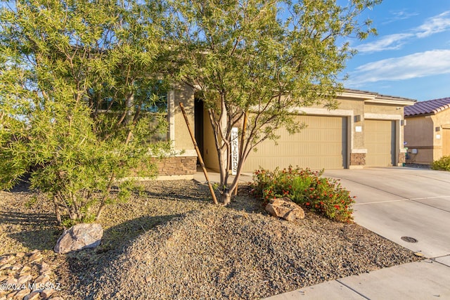
[{"label": "narrower single garage door, right of the wide one", "polygon": [[385,120],[364,121],[364,145],[367,148],[367,167],[394,165],[395,122]]}]

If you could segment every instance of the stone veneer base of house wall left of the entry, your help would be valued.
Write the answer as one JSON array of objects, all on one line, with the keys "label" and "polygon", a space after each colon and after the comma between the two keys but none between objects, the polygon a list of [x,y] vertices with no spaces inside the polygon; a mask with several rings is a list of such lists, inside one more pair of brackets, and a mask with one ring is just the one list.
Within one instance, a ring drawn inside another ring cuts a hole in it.
[{"label": "stone veneer base of house wall left of the entry", "polygon": [[193,175],[197,171],[197,157],[176,156],[158,159],[158,176]]}]

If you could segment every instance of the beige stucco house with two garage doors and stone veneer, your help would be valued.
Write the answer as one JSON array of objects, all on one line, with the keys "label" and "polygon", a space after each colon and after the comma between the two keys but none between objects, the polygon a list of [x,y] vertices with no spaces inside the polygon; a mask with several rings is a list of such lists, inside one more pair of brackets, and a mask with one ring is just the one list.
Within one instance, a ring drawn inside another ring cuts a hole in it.
[{"label": "beige stucco house with two garage doors and stone veneer", "polygon": [[[162,159],[160,178],[192,178],[197,155],[179,103],[183,103],[195,131],[205,166],[218,170],[212,129],[203,109],[186,86],[174,86],[167,96],[168,136],[178,155]],[[346,89],[338,96],[337,110],[299,107],[297,120],[307,129],[289,135],[278,131],[277,141],[264,141],[245,162],[243,171],[284,168],[289,165],[311,169],[355,169],[401,166],[405,162],[404,107],[416,100]]]}]

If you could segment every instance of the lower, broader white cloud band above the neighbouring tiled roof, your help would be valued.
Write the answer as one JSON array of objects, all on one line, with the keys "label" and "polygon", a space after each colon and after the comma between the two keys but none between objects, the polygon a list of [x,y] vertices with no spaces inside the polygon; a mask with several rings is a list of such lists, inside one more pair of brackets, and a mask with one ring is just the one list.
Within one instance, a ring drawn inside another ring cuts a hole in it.
[{"label": "lower, broader white cloud band above the neighbouring tiled roof", "polygon": [[437,74],[450,74],[450,50],[425,51],[361,65],[349,74],[346,86],[358,86],[359,84],[376,81],[404,80]]}]

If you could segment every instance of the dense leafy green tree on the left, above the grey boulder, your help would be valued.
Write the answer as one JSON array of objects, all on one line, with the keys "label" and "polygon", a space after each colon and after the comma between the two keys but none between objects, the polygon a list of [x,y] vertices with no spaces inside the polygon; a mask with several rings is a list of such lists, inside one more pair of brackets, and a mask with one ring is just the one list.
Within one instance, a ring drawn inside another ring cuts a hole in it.
[{"label": "dense leafy green tree on the left, above the grey boulder", "polygon": [[167,130],[154,120],[164,121],[164,8],[152,0],[8,4],[0,12],[0,188],[30,173],[59,223],[64,212],[98,219],[113,185],[126,197],[131,169],[155,174],[151,157],[169,148],[149,138]]}]

